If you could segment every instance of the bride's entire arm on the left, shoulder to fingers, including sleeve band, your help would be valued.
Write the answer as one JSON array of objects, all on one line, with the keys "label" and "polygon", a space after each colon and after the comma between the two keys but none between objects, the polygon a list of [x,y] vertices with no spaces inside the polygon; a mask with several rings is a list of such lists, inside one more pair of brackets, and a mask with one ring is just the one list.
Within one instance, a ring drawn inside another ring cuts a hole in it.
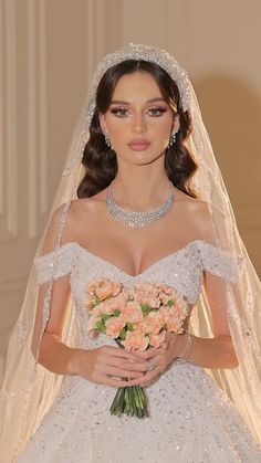
[{"label": "bride's entire arm on the left, shoulder to fingers, including sleeve band", "polygon": [[[115,387],[126,386],[126,380],[113,379],[112,377],[137,378],[143,375],[140,361],[137,362],[137,358],[130,352],[113,346],[101,346],[91,350],[77,349],[69,347],[62,341],[71,293],[69,276],[71,261],[69,255],[66,261],[60,261],[61,266],[50,266],[53,255],[45,254],[51,253],[55,246],[59,225],[55,222],[60,222],[58,211],[52,218],[43,245],[43,261],[41,261],[43,272],[40,271],[41,286],[31,346],[32,354],[39,364],[54,373],[79,375],[97,383],[102,382]],[[63,250],[60,249],[59,252],[62,253]],[[61,254],[59,255],[61,257]],[[64,254],[62,256],[64,257]],[[59,265],[59,259],[55,262]],[[39,269],[41,269],[41,265]],[[50,267],[53,270],[50,271]],[[49,290],[52,290],[51,293],[49,293]],[[48,318],[46,326],[43,324],[44,318],[45,320]]]}]

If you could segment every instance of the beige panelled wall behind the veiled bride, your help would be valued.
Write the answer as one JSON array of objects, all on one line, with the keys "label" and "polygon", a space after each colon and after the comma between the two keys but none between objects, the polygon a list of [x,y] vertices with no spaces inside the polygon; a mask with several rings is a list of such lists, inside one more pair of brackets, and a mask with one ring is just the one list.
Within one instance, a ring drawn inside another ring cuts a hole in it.
[{"label": "beige panelled wall behind the veiled bride", "polygon": [[129,41],[188,70],[261,274],[260,14],[259,0],[0,0],[0,349],[93,67]]}]

